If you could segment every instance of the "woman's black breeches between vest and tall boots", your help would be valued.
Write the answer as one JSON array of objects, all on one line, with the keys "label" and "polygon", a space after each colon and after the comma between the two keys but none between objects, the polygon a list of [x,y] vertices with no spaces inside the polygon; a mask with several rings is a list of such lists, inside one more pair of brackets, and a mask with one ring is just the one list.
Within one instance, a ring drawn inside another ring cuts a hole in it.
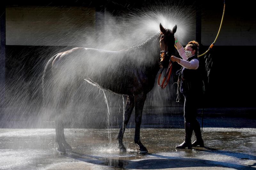
[{"label": "woman's black breeches between vest and tall boots", "polygon": [[197,122],[196,115],[197,115],[197,107],[198,107],[198,97],[197,94],[193,93],[183,93],[185,97],[184,101],[184,119],[185,122],[193,123]]}]

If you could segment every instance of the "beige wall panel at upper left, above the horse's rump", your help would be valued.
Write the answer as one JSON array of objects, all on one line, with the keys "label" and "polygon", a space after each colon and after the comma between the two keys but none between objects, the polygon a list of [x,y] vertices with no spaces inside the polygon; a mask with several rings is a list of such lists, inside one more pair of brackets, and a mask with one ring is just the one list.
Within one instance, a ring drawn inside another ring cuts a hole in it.
[{"label": "beige wall panel at upper left, above the horse's rump", "polygon": [[6,7],[6,45],[83,45],[94,26],[94,8]]}]

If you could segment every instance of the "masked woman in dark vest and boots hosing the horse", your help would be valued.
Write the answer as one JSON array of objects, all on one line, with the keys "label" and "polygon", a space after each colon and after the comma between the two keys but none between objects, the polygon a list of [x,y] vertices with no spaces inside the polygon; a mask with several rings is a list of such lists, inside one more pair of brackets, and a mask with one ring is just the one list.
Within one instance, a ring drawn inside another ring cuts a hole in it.
[{"label": "masked woman in dark vest and boots hosing the horse", "polygon": [[[182,68],[179,73],[178,87],[183,94],[184,101],[184,122],[185,122],[185,140],[182,144],[176,146],[178,149],[192,149],[192,147],[204,147],[200,124],[196,119],[197,106],[202,92],[202,80],[199,72],[199,59],[197,57],[199,43],[190,41],[185,49],[180,44],[177,37],[175,44],[182,59],[171,56],[173,62],[179,63]],[[179,85],[180,82],[180,85]],[[178,89],[179,90],[179,89]],[[191,144],[193,130],[195,132],[196,141]]]}]

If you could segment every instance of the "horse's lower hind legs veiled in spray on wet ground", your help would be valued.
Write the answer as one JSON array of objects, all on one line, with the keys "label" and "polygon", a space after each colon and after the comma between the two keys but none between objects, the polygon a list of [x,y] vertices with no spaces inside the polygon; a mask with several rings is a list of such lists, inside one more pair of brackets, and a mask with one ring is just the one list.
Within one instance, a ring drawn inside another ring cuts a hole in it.
[{"label": "horse's lower hind legs veiled in spray on wet ground", "polygon": [[66,152],[66,149],[72,149],[71,146],[67,143],[64,136],[64,126],[61,120],[55,121],[55,131],[56,131],[56,142],[59,145],[58,151]]}]

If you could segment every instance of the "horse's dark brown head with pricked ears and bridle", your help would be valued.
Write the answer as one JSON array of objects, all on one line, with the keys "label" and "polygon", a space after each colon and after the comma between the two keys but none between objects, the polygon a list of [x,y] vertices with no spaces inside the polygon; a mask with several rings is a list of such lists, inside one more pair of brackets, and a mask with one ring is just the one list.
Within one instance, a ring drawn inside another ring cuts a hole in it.
[{"label": "horse's dark brown head with pricked ears and bridle", "polygon": [[175,25],[172,30],[165,29],[162,24],[160,23],[160,31],[161,31],[161,38],[160,38],[160,66],[161,67],[168,67],[170,57],[172,56],[174,50],[174,33],[177,30],[177,25]]}]

